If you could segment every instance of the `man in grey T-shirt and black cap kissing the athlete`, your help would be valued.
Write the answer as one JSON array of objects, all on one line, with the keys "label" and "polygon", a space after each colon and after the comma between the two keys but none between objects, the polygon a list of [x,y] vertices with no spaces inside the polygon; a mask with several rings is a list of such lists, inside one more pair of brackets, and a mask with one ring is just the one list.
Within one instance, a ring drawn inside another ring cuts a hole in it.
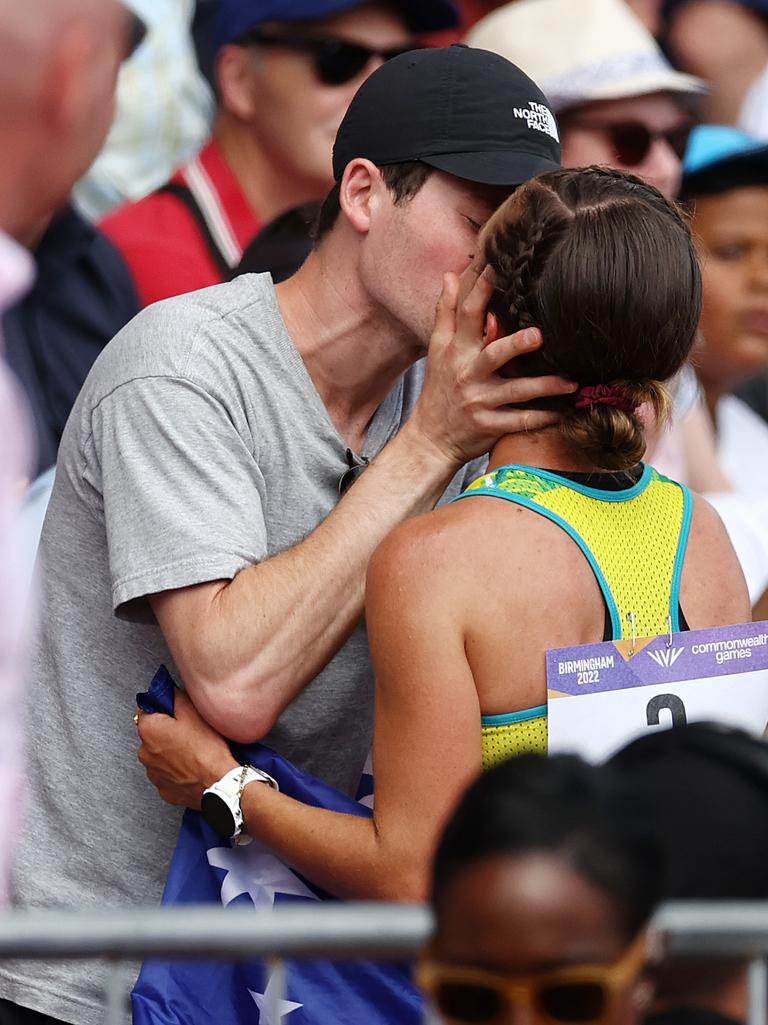
[{"label": "man in grey T-shirt and black cap kissing the athlete", "polygon": [[[496,372],[540,336],[484,347],[489,288],[472,272],[453,324],[479,225],[557,166],[556,136],[544,96],[502,57],[396,57],[353,100],[333,224],[298,274],[158,303],[108,345],[65,432],[41,541],[21,903],[160,896],[178,814],[148,786],[131,720],[161,662],[221,733],[354,792],[373,712],[371,554],[457,494],[496,438],[553,420],[510,404],[573,387]],[[100,1020],[100,982],[92,966],[0,970],[0,994],[81,1025]]]}]

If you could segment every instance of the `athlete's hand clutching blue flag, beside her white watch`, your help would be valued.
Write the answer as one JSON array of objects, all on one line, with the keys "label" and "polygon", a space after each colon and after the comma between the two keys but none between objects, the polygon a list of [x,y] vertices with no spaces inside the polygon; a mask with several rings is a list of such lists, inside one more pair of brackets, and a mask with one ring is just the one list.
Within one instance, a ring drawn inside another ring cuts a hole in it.
[{"label": "athlete's hand clutching blue flag, beside her white watch", "polygon": [[238,763],[229,744],[202,719],[181,691],[175,717],[161,712],[138,715],[138,761],[169,805],[200,808],[203,790]]}]

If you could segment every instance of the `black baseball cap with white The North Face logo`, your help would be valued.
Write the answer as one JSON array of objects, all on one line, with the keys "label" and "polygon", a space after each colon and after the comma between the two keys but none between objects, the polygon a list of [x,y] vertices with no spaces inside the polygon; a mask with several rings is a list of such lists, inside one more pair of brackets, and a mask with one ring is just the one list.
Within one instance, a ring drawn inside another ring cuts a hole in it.
[{"label": "black baseball cap with white The North Face logo", "polygon": [[355,157],[518,186],[560,167],[560,138],[535,82],[497,53],[456,44],[403,53],[366,79],[336,135],[336,181]]}]

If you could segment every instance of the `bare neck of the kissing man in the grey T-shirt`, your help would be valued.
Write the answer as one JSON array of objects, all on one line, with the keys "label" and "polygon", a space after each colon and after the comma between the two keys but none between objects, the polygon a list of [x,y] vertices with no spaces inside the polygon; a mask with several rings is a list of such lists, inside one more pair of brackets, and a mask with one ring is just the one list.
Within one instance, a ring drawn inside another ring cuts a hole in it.
[{"label": "bare neck of the kissing man in the grey T-shirt", "polygon": [[402,325],[371,302],[349,247],[326,239],[278,285],[288,333],[337,430],[359,452],[370,420],[423,352]]}]

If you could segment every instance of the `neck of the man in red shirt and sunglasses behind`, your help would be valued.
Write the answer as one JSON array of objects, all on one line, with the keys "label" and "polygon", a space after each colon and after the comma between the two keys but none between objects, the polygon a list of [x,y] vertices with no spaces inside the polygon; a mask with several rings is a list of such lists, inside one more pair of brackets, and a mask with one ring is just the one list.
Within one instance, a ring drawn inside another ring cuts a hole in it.
[{"label": "neck of the man in red shirt and sunglasses behind", "polygon": [[269,224],[286,210],[322,199],[318,182],[287,175],[284,168],[275,167],[253,132],[232,115],[218,114],[213,138],[260,223]]}]

